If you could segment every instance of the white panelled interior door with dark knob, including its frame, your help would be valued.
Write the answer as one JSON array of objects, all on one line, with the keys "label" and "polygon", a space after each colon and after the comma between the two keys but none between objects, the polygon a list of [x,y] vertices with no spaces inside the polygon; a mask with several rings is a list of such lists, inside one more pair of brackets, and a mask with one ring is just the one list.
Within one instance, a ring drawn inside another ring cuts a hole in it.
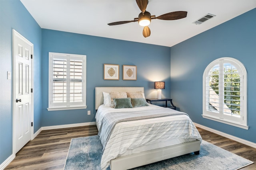
[{"label": "white panelled interior door with dark knob, including its frame", "polygon": [[14,148],[17,153],[32,139],[33,44],[13,30]]}]

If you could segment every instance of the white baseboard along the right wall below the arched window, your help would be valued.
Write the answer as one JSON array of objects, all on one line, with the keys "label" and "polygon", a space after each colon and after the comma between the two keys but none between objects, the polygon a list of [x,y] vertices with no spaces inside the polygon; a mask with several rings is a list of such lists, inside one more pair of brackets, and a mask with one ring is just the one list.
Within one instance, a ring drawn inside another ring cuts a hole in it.
[{"label": "white baseboard along the right wall below the arched window", "polygon": [[256,143],[253,143],[253,142],[250,142],[250,141],[246,141],[246,140],[241,139],[241,138],[239,138],[239,137],[235,137],[235,136],[229,135],[229,134],[227,134],[227,133],[223,133],[223,132],[221,132],[221,131],[217,131],[217,130],[212,129],[212,128],[210,128],[210,127],[206,127],[206,126],[200,125],[200,124],[198,124],[198,123],[194,123],[194,124],[195,124],[196,127],[200,127],[200,128],[202,128],[202,129],[205,129],[205,130],[210,131],[210,132],[212,132],[212,133],[216,133],[216,134],[218,134],[218,135],[220,135],[220,136],[223,136],[223,137],[226,137],[226,138],[228,138],[228,139],[232,139],[232,140],[234,140],[234,141],[243,143],[244,145],[248,145],[248,146],[250,146],[250,147],[256,148]]}]

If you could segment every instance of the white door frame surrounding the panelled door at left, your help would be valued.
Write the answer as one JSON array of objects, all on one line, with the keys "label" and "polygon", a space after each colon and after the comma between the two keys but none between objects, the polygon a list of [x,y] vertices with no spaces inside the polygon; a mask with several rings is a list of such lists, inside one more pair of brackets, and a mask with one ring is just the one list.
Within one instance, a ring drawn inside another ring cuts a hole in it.
[{"label": "white door frame surrounding the panelled door at left", "polygon": [[[25,37],[23,37],[20,33],[18,33],[15,29],[12,29],[12,154],[16,155],[16,140],[15,140],[15,136],[16,136],[16,131],[15,131],[15,126],[14,126],[14,114],[16,112],[16,107],[15,107],[15,103],[14,100],[16,99],[16,57],[15,57],[15,50],[14,50],[14,45],[16,42],[16,38],[20,38],[22,39],[22,41],[26,42],[28,45],[30,45],[31,49],[31,54],[34,57],[34,45],[28,41]],[[34,60],[31,60],[31,88],[34,88]],[[31,115],[30,115],[30,120],[32,122],[34,122],[34,93],[30,93],[31,94]],[[33,126],[30,127],[31,129],[31,137],[30,140],[34,139],[34,123]]]}]

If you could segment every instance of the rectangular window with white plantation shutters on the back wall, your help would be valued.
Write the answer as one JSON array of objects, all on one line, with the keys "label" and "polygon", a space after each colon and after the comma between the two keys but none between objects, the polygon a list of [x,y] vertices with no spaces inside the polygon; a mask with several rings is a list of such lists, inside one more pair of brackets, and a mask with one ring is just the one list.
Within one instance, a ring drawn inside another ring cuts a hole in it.
[{"label": "rectangular window with white plantation shutters on the back wall", "polygon": [[86,55],[49,53],[48,110],[86,108]]}]

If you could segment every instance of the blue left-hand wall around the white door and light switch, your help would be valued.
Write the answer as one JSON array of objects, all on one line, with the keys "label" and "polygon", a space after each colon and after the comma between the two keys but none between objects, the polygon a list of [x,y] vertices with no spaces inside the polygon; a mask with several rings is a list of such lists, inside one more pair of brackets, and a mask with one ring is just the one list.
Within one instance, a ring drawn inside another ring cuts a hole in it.
[{"label": "blue left-hand wall around the white door and light switch", "polygon": [[34,132],[42,127],[42,29],[20,0],[0,0],[0,164],[12,154],[12,29],[34,44]]}]

